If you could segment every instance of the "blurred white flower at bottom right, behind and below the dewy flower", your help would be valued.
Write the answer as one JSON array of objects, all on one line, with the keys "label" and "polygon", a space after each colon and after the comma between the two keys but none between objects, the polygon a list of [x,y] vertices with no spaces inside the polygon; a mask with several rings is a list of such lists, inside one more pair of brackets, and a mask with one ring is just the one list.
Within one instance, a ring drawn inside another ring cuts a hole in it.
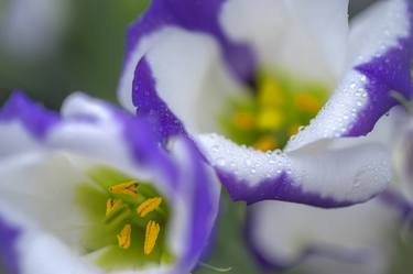
[{"label": "blurred white flower at bottom right, behind and below the dewy flower", "polygon": [[[395,146],[394,132],[403,130],[405,119],[404,110],[392,109],[374,133]],[[262,201],[248,209],[246,239],[265,268],[389,273],[398,238],[413,232],[412,213],[412,196],[396,182],[370,201],[335,210]]]}]

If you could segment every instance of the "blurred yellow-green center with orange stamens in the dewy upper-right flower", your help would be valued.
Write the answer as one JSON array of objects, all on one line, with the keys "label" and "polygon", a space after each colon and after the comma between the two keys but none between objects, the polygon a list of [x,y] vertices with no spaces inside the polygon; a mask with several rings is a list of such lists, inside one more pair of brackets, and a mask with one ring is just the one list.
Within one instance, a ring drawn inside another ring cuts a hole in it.
[{"label": "blurred yellow-green center with orange stamens in the dewy upper-right flower", "polygon": [[218,121],[236,143],[261,151],[283,149],[317,114],[327,90],[324,85],[301,83],[280,73],[260,73],[257,89],[231,98]]}]

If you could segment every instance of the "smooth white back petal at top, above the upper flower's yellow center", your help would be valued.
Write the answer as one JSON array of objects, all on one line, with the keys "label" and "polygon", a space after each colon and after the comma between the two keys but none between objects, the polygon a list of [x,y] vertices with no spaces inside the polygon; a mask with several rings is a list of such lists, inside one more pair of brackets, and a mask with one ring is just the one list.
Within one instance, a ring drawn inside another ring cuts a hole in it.
[{"label": "smooth white back petal at top, above the upper flower's yellow center", "polygon": [[261,63],[335,84],[345,65],[347,9],[347,0],[229,0],[220,22],[230,37],[254,45]]}]

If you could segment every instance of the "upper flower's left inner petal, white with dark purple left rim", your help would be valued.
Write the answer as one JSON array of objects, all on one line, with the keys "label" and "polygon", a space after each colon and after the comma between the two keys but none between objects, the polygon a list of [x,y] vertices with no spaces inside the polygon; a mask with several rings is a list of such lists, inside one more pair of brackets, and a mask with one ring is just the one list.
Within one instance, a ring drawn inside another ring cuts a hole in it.
[{"label": "upper flower's left inner petal, white with dark purple left rim", "polygon": [[[133,80],[138,116],[156,120],[163,138],[215,131],[211,113],[236,83],[221,66],[218,46],[205,34],[163,30],[162,39],[139,62]],[[185,127],[183,125],[185,124]]]}]

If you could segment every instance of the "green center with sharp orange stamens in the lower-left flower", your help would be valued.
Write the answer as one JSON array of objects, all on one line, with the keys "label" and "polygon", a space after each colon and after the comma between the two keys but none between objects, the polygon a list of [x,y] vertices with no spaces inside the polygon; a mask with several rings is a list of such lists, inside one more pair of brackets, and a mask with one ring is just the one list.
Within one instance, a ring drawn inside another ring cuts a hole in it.
[{"label": "green center with sharp orange stamens in the lower-left flower", "polygon": [[94,184],[79,184],[77,201],[89,223],[81,238],[84,252],[104,268],[141,268],[169,264],[167,200],[148,182],[109,167],[88,173]]}]

